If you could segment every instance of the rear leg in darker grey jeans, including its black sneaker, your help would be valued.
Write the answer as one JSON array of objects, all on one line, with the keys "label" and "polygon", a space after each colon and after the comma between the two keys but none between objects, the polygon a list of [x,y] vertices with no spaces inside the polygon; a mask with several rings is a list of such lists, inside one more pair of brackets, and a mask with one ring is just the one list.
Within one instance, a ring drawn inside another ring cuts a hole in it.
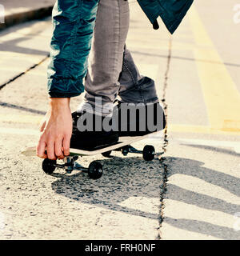
[{"label": "rear leg in darker grey jeans, including its black sneaker", "polygon": [[130,51],[125,48],[122,73],[118,79],[119,136],[142,136],[162,130],[166,118],[153,79],[139,74]]}]

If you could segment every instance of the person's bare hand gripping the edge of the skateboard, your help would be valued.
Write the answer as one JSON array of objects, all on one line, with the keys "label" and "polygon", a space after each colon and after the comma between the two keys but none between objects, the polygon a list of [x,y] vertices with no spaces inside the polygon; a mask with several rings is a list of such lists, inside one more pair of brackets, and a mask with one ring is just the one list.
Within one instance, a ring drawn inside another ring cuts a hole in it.
[{"label": "person's bare hand gripping the edge of the skateboard", "polygon": [[50,98],[50,108],[42,121],[40,131],[42,134],[36,152],[39,158],[56,160],[70,154],[72,134],[70,98]]}]

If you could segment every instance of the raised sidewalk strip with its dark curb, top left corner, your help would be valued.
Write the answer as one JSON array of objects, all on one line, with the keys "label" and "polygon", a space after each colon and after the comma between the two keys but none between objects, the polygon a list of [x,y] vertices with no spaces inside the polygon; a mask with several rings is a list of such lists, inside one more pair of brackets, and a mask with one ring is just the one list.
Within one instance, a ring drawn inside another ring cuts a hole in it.
[{"label": "raised sidewalk strip with its dark curb, top left corner", "polygon": [[55,0],[0,0],[5,9],[5,23],[0,30],[33,19],[43,18],[51,14]]}]

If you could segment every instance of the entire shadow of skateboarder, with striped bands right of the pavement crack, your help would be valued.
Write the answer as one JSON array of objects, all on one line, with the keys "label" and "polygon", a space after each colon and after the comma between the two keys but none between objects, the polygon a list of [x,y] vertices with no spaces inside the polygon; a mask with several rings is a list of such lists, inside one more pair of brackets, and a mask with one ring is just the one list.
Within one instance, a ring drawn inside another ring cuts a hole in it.
[{"label": "entire shadow of skateboarder, with striped bands right of the pavement crack", "polygon": [[[81,159],[80,159],[81,160]],[[185,174],[201,178],[206,182],[222,186],[237,196],[240,195],[240,180],[229,174],[223,174],[216,170],[202,167],[204,162],[198,162],[187,158],[164,158],[164,161],[155,159],[152,162],[145,162],[142,158],[118,158],[101,160],[104,166],[104,174],[98,180],[91,180],[87,174],[54,174],[58,181],[52,183],[53,190],[67,198],[79,202],[100,206],[108,210],[115,210],[126,214],[133,214],[144,218],[157,219],[161,222],[161,209],[158,214],[151,211],[134,210],[133,208],[121,206],[128,198],[155,198],[159,200],[165,196],[172,200],[196,205],[204,209],[218,210],[226,214],[234,214],[238,211],[239,205],[223,201],[205,194],[198,194],[190,190],[184,190],[179,186],[167,185],[170,194],[162,194],[162,174],[164,166],[167,166],[172,174]],[[172,168],[172,166],[185,166],[185,168]],[[194,170],[194,172],[193,172]],[[214,178],[213,178],[214,177]],[[234,218],[234,217],[233,217]],[[183,230],[190,230],[201,234],[207,234],[216,238],[239,238],[239,232],[234,229],[218,226],[209,222],[199,222],[190,219],[178,220],[164,218],[164,222]]]}]

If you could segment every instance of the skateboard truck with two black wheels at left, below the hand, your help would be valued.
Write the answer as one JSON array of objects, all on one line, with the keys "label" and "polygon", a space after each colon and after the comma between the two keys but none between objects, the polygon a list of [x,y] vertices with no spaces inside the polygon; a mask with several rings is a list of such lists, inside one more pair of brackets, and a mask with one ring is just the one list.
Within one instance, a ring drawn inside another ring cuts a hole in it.
[{"label": "skateboard truck with two black wheels at left, below the hand", "polygon": [[87,173],[90,178],[98,179],[102,177],[102,164],[100,162],[91,162],[88,168],[83,167],[76,162],[78,156],[67,156],[64,158],[63,164],[58,164],[57,160],[44,159],[42,162],[42,170],[46,174],[53,174],[56,168],[66,170],[67,174],[71,174],[73,170],[81,170]]}]

